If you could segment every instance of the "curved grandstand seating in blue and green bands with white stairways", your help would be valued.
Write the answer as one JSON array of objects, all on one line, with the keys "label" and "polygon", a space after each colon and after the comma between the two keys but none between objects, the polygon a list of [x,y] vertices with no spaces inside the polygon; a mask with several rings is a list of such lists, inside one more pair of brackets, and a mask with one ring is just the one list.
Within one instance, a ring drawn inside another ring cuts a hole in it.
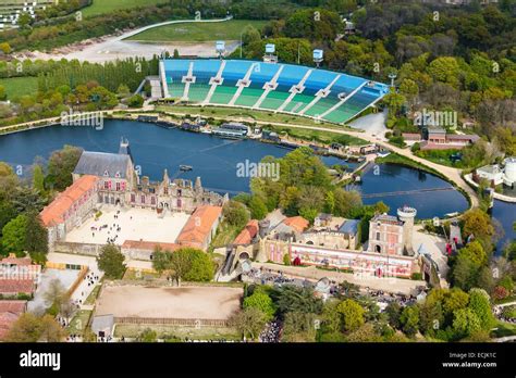
[{"label": "curved grandstand seating in blue and green bands with white stairways", "polygon": [[[171,98],[292,113],[337,124],[355,117],[389,90],[384,84],[344,73],[245,60],[168,59],[164,73]],[[186,78],[188,73],[192,77]],[[219,74],[221,80],[214,80]]]}]

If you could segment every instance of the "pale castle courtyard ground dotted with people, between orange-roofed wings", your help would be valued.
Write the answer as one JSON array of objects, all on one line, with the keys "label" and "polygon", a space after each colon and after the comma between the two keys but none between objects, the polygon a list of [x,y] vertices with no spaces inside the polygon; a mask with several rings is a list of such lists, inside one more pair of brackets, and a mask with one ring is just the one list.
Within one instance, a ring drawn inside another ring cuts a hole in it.
[{"label": "pale castle courtyard ground dotted with people, between orange-roofed wings", "polygon": [[[118,245],[122,245],[125,240],[140,239],[173,243],[189,217],[186,213],[168,213],[163,218],[159,218],[158,214],[151,210],[123,209],[115,219],[116,211],[118,207],[114,206],[102,206],[102,215],[98,220],[91,216],[81,227],[69,232],[65,241],[106,244],[108,238],[118,236],[114,241]],[[108,225],[108,228],[99,230],[103,225]]]}]

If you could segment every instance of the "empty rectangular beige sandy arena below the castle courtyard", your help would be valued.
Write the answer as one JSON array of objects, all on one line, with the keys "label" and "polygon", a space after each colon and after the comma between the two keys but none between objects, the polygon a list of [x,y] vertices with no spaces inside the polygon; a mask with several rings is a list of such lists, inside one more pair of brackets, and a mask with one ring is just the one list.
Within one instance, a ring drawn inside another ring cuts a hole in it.
[{"label": "empty rectangular beige sandy arena below the castle courtyard", "polygon": [[224,320],[239,308],[242,295],[243,289],[228,287],[105,286],[96,315]]}]

